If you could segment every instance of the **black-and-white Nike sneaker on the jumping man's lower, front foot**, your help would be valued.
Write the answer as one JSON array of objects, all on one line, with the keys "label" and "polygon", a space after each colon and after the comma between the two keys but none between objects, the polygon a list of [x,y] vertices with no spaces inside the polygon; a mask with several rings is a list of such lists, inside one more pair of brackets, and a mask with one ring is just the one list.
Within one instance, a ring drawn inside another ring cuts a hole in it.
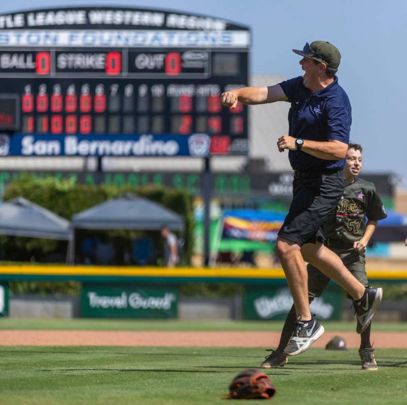
[{"label": "black-and-white Nike sneaker on the jumping man's lower, front foot", "polygon": [[324,327],[315,319],[315,316],[310,321],[296,321],[294,333],[283,354],[295,356],[306,351],[324,332]]}]

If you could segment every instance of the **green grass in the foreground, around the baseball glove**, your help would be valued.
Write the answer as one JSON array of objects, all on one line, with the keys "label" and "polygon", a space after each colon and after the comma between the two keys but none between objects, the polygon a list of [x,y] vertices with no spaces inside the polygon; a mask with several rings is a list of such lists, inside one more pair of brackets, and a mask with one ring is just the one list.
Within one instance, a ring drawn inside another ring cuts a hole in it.
[{"label": "green grass in the foreground, around the baseball glove", "polygon": [[[267,370],[278,404],[405,404],[407,350],[378,349],[379,370],[356,350],[310,349]],[[231,379],[262,349],[0,347],[0,404],[222,404]],[[227,403],[227,402],[226,402]],[[239,402],[238,402],[239,403]]]}]

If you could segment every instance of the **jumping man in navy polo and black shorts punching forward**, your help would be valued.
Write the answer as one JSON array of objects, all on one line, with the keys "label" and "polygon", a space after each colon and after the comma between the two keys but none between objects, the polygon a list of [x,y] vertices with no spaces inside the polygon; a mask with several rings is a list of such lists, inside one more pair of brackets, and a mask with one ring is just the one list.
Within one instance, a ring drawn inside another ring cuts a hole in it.
[{"label": "jumping man in navy polo and black shorts punching forward", "polygon": [[289,135],[277,141],[280,152],[289,150],[294,169],[293,199],[279,232],[276,252],[294,300],[297,322],[286,355],[307,350],[324,333],[311,316],[308,301],[307,268],[313,264],[341,285],[355,301],[363,332],[376,309],[383,290],[365,288],[353,277],[341,259],[323,245],[320,230],[344,191],[343,167],[348,150],[351,105],[335,76],[341,54],[324,41],[308,43],[302,51],[302,77],[269,87],[244,87],[221,95],[224,106],[238,102],[264,104],[289,101]]}]

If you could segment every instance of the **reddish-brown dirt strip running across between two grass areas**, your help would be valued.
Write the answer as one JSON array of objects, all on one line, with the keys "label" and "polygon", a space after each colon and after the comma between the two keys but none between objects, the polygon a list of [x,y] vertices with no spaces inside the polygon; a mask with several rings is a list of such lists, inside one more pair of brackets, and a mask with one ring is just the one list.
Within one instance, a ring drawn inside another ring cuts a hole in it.
[{"label": "reddish-brown dirt strip running across between two grass areas", "polygon": [[[333,336],[343,337],[349,348],[358,348],[354,332],[326,332],[314,347],[325,347]],[[275,347],[279,332],[112,332],[85,330],[0,330],[0,345],[12,346],[184,346]],[[407,348],[407,332],[375,332],[376,348]]]}]

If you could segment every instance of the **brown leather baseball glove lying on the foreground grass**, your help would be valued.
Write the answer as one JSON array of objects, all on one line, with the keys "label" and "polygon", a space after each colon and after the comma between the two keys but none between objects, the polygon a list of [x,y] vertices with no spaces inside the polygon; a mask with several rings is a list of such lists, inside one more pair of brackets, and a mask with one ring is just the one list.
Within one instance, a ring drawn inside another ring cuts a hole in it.
[{"label": "brown leather baseball glove lying on the foreground grass", "polygon": [[262,370],[247,369],[233,379],[229,392],[229,399],[269,399],[276,389]]}]

